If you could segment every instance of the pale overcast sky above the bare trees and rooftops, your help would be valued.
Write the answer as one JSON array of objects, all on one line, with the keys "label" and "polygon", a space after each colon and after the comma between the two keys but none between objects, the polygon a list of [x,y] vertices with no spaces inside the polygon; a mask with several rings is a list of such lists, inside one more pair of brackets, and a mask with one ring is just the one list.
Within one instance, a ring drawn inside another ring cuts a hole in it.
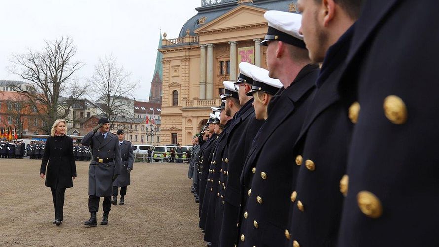
[{"label": "pale overcast sky above the bare trees and rooftops", "polygon": [[201,0],[0,0],[0,80],[20,80],[7,70],[12,53],[41,50],[44,40],[68,35],[74,59],[85,64],[77,78],[89,77],[98,58],[112,53],[140,81],[134,96],[147,99],[160,29],[178,38],[200,6]]}]

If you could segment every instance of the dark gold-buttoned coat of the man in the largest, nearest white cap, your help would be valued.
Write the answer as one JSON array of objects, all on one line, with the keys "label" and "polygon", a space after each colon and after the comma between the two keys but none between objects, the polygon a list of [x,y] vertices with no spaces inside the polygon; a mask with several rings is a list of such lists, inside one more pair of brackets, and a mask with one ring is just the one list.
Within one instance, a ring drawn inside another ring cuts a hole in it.
[{"label": "dark gold-buttoned coat of the man in the largest, nearest white cap", "polygon": [[277,247],[286,243],[296,169],[293,143],[311,103],[318,73],[317,66],[305,66],[291,86],[281,88],[268,105],[268,119],[255,137],[242,172],[239,246]]}]

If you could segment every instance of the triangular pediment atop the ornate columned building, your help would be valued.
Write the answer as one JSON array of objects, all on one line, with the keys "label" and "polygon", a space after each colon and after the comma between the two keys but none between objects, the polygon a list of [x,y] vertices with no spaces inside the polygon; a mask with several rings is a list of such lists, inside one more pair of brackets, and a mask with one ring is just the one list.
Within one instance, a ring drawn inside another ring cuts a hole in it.
[{"label": "triangular pediment atop the ornate columned building", "polygon": [[208,24],[195,30],[195,33],[208,33],[219,30],[234,29],[239,27],[254,26],[266,24],[264,18],[266,9],[257,8],[248,5],[240,5],[237,8],[219,16]]}]

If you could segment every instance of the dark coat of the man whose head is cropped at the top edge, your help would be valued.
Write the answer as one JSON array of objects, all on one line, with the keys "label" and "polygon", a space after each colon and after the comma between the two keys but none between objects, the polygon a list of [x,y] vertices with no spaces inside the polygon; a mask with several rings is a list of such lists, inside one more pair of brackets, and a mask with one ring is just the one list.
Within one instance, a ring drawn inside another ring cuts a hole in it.
[{"label": "dark coat of the man whose head is cropped at the top edge", "polygon": [[[354,27],[329,48],[316,82],[317,92],[294,145],[293,157],[300,166],[290,191],[289,247],[293,241],[300,246],[336,246],[344,199],[339,184],[346,173],[353,127],[349,105],[341,100],[338,86]],[[307,166],[306,161],[314,166]]]}]

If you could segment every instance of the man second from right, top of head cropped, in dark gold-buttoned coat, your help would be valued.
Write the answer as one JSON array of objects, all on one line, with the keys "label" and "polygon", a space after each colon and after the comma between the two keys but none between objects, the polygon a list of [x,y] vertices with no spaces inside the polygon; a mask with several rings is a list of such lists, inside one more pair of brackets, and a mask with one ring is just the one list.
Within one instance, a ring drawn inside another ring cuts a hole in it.
[{"label": "man second from right, top of head cropped, in dark gold-buttoned coat", "polygon": [[[314,18],[314,11],[323,11],[323,4],[299,1],[303,11],[301,30],[309,57],[323,65],[316,95],[293,149],[298,174],[290,192],[288,246],[336,246],[346,193],[344,189],[340,192],[338,185],[344,181],[353,128],[347,114],[349,105],[340,98],[340,74],[354,33],[352,24],[360,14],[360,2],[335,2],[338,7],[330,9],[331,25],[326,26],[326,15]],[[326,38],[318,38],[316,32],[326,34]]]}]

